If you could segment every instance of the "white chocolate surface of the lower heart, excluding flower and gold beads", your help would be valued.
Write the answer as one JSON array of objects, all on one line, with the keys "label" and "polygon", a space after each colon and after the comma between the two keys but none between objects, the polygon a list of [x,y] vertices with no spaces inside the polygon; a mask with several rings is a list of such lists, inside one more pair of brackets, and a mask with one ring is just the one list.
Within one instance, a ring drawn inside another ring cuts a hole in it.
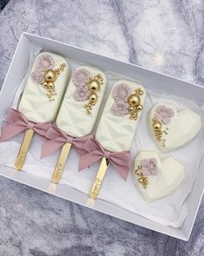
[{"label": "white chocolate surface of the lower heart, excluding flower and gold beads", "polygon": [[[149,184],[146,188],[138,181],[138,175],[135,170],[143,159],[156,158],[159,173],[148,177]],[[132,169],[132,179],[143,199],[147,201],[158,200],[167,194],[175,191],[185,179],[184,167],[173,157],[160,159],[156,151],[141,151],[135,159],[135,167]]]}]

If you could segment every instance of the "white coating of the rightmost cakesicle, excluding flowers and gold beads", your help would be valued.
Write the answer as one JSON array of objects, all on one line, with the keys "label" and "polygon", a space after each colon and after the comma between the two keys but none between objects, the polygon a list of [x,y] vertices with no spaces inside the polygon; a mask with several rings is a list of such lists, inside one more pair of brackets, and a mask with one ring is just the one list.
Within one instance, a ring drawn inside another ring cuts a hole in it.
[{"label": "white coating of the rightmost cakesicle, excluding flowers and gold beads", "polygon": [[[143,105],[146,92],[142,85],[136,82],[120,80],[114,84],[112,89],[114,89],[114,87],[120,83],[128,84],[131,87],[132,93],[134,93],[136,89],[142,89],[143,95],[141,95],[140,98],[141,104]],[[99,121],[99,125],[96,131],[96,140],[99,141],[105,147],[105,149],[112,152],[130,150],[131,143],[136,133],[137,124],[143,111],[138,112],[137,121],[131,120],[130,115],[115,116],[112,115],[111,111],[113,102],[114,100],[112,98],[111,91]]]}]

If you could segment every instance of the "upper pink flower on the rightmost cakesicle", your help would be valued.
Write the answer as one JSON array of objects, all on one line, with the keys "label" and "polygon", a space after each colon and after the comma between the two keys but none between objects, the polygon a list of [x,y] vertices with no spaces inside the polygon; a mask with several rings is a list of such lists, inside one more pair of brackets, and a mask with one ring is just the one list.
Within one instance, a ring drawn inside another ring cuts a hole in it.
[{"label": "upper pink flower on the rightmost cakesicle", "polygon": [[112,90],[112,98],[114,102],[127,102],[129,95],[131,95],[131,88],[126,83],[120,83]]}]

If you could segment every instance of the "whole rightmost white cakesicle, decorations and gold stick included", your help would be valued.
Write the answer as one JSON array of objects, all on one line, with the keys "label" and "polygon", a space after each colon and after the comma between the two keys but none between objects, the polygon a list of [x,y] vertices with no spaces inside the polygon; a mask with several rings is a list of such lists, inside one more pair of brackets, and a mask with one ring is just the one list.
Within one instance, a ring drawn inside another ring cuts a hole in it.
[{"label": "whole rightmost white cakesicle, decorations and gold stick included", "polygon": [[[130,163],[129,153],[143,110],[145,95],[143,86],[136,82],[121,80],[114,84],[95,135],[96,143],[101,145],[97,147],[103,151],[103,158],[90,192],[92,199],[96,198],[99,193],[110,161],[114,167],[123,165],[126,161],[125,157],[129,158]],[[117,169],[125,179],[125,167]],[[129,167],[126,170],[128,172]]]}]

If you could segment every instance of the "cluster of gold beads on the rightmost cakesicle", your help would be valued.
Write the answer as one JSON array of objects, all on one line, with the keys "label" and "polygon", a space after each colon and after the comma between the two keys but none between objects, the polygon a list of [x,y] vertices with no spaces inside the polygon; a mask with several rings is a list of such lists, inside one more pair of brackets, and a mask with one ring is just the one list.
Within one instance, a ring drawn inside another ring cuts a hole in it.
[{"label": "cluster of gold beads on the rightmost cakesicle", "polygon": [[143,105],[141,105],[140,96],[143,95],[142,89],[136,89],[135,92],[128,97],[128,112],[130,114],[130,119],[137,120],[138,112],[143,110]]}]

